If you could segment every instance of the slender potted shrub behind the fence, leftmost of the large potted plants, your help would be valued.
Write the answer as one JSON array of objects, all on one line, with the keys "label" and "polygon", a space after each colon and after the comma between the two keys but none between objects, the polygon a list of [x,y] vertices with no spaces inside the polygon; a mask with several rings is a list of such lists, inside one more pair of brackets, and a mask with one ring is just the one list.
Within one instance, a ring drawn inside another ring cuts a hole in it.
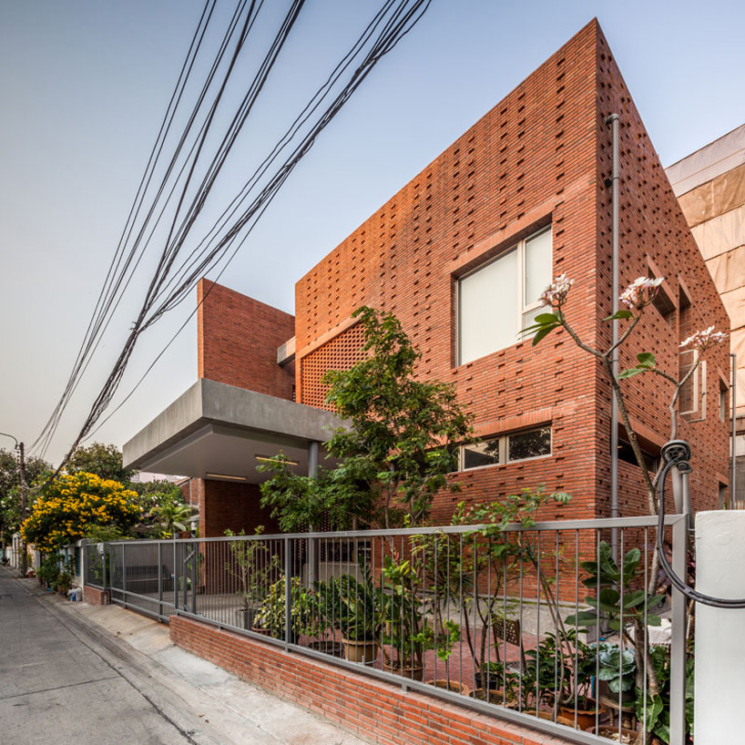
[{"label": "slender potted shrub behind the fence, leftmost of the large potted plants", "polygon": [[[256,527],[256,536],[263,532],[263,526]],[[245,533],[226,530],[225,535],[238,537],[245,536]],[[240,607],[235,611],[236,626],[250,629],[255,625],[256,611],[269,587],[270,578],[280,569],[280,560],[275,554],[270,555],[269,546],[260,540],[229,541],[228,548],[230,561],[225,563],[225,570],[235,578],[238,585],[236,595],[240,600]]]}]

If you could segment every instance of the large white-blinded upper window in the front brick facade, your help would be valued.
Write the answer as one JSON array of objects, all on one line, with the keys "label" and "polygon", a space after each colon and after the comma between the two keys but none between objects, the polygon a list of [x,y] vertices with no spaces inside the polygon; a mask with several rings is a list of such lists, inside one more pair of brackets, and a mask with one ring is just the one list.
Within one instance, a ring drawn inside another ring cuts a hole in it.
[{"label": "large white-blinded upper window in the front brick facade", "polygon": [[551,283],[548,228],[458,281],[458,364],[515,344],[540,312],[541,292]]}]

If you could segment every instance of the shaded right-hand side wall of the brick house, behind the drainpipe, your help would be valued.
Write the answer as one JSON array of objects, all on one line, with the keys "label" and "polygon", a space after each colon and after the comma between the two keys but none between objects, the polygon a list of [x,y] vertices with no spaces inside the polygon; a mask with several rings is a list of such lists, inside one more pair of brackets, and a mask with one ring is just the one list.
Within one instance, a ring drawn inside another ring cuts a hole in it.
[{"label": "shaded right-hand side wall of the brick house, behind the drainpipe", "polygon": [[[687,220],[679,207],[657,152],[649,140],[637,108],[602,33],[597,36],[597,325],[598,336],[610,342],[609,327],[602,323],[610,308],[611,262],[611,194],[604,179],[611,173],[610,130],[605,117],[615,112],[620,117],[620,182],[619,182],[619,258],[620,286],[639,276],[666,278],[666,291],[678,307],[663,316],[657,308],[645,313],[645,320],[632,343],[621,354],[621,369],[636,362],[638,352],[654,352],[658,365],[668,373],[678,373],[679,341],[696,329],[714,324],[719,329],[729,326],[724,306],[706,269],[698,247],[690,233]],[[688,295],[689,309],[679,298]],[[693,450],[693,474],[690,476],[691,497],[695,509],[716,509],[719,483],[728,483],[728,424],[719,419],[717,398],[719,373],[729,369],[727,345],[707,352],[709,401],[706,419],[688,422],[679,418],[678,438],[689,442]],[[598,373],[599,374],[599,373]],[[638,375],[624,383],[629,413],[634,419],[657,434],[658,444],[670,436],[668,403],[672,386],[653,375]],[[609,393],[607,385],[597,384],[597,432],[609,432]],[[638,427],[640,429],[640,427]],[[610,458],[605,443],[599,438],[597,448],[597,493],[601,504],[610,491]],[[646,495],[640,488],[638,469],[621,469],[619,495],[621,514],[647,513]],[[601,509],[603,515],[605,510]]]}]

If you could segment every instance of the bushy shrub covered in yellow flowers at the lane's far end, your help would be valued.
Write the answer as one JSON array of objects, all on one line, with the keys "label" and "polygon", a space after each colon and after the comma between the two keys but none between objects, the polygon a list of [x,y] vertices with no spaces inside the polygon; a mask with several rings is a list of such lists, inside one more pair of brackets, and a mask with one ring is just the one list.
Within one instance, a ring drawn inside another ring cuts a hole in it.
[{"label": "bushy shrub covered in yellow flowers at the lane's far end", "polygon": [[138,495],[117,481],[80,472],[48,485],[21,526],[26,543],[41,551],[75,543],[91,526],[126,530],[141,517]]}]

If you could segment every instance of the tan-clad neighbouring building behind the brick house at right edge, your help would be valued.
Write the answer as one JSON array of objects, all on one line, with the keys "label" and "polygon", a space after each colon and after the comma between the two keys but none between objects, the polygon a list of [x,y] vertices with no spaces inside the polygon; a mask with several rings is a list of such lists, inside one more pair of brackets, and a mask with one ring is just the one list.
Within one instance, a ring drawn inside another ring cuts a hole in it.
[{"label": "tan-clad neighbouring building behind the brick house at right edge", "polygon": [[[745,124],[667,169],[691,233],[730,314],[737,355],[736,500],[745,502]],[[717,405],[724,416],[726,386]]]}]

